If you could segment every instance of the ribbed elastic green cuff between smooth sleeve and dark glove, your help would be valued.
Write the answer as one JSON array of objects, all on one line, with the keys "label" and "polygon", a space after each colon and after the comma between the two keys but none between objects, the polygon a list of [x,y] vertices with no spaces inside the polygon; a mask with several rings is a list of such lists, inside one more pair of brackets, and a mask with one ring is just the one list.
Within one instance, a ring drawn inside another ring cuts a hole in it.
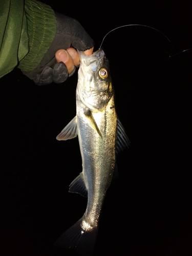
[{"label": "ribbed elastic green cuff between smooth sleeve and dark glove", "polygon": [[52,44],[56,32],[56,17],[48,5],[38,1],[25,1],[29,53],[19,62],[19,69],[33,70],[37,67]]}]

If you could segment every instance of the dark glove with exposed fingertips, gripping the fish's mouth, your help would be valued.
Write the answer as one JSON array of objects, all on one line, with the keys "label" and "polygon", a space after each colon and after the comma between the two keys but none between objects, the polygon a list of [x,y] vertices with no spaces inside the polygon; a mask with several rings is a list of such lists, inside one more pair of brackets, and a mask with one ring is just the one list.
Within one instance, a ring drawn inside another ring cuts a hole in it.
[{"label": "dark glove with exposed fingertips, gripping the fish's mouth", "polygon": [[57,29],[50,48],[34,70],[22,71],[38,86],[51,82],[61,83],[68,78],[69,74],[66,65],[62,61],[56,61],[55,53],[57,50],[68,49],[73,46],[78,50],[86,51],[94,46],[94,41],[76,19],[57,12],[55,12],[55,16]]}]

